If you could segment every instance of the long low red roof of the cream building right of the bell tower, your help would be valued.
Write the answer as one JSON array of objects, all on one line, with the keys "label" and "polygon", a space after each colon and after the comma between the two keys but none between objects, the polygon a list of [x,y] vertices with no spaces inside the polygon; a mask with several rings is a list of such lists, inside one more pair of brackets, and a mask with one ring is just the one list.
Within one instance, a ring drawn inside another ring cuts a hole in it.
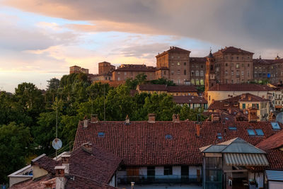
[{"label": "long low red roof of the cream building right of the bell tower", "polygon": [[269,86],[258,84],[216,84],[209,91],[274,91]]}]

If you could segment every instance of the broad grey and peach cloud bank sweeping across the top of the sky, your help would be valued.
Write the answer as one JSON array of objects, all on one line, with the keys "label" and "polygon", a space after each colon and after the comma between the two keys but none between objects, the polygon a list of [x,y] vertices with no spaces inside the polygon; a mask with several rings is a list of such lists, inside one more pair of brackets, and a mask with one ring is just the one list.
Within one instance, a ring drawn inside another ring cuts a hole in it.
[{"label": "broad grey and peach cloud bank sweeping across the top of the sky", "polygon": [[115,30],[119,23],[127,25],[118,28],[125,32],[179,35],[248,50],[278,48],[283,42],[279,0],[28,0],[25,4],[8,0],[6,4],[47,16],[113,23],[112,28],[81,25],[88,30]]}]

